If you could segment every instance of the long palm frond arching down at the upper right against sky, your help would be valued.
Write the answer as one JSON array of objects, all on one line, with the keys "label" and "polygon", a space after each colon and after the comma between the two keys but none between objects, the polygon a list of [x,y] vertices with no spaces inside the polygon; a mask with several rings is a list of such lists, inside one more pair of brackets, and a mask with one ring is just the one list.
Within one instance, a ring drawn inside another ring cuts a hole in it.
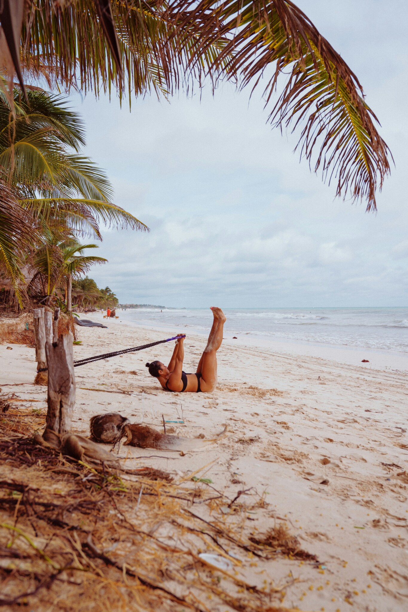
[{"label": "long palm frond arching down at the upper right against sky", "polygon": [[289,71],[270,121],[301,130],[296,148],[324,179],[336,177],[336,195],[366,199],[367,210],[376,209],[376,190],[390,172],[389,149],[357,76],[302,10],[291,0],[179,0],[170,9],[177,34],[201,21],[201,52],[217,37],[229,40],[211,66],[218,78],[254,89],[267,77],[265,105]]}]

